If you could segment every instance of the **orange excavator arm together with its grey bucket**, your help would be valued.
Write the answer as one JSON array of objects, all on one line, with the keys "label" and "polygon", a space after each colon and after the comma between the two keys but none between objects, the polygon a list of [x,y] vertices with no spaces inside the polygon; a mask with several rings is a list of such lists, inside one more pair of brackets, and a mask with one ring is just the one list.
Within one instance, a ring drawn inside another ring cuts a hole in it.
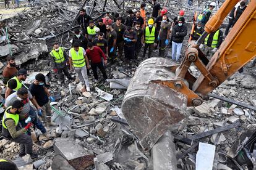
[{"label": "orange excavator arm together with its grey bucket", "polygon": [[[186,125],[186,108],[203,103],[203,97],[220,86],[256,56],[256,0],[251,0],[218,51],[210,60],[199,46],[216,31],[239,0],[226,0],[205,25],[198,41],[190,41],[181,65],[153,57],[140,63],[122,102],[122,113],[140,145],[150,150],[168,129]],[[190,65],[200,70],[195,78]]]}]

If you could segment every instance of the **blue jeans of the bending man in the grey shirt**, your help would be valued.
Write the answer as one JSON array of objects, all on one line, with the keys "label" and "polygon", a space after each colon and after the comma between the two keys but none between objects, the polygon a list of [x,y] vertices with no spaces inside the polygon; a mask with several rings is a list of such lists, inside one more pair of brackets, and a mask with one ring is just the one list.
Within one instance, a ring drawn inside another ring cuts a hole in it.
[{"label": "blue jeans of the bending man in the grey shirt", "polygon": [[[40,119],[37,118],[36,112],[32,107],[30,107],[28,116],[30,116],[31,122],[44,134],[46,132],[46,129],[41,123]],[[25,123],[25,119],[20,120],[20,124],[22,125],[22,127],[25,127],[27,125],[27,123]],[[30,131],[28,131],[28,134],[31,134]]]}]

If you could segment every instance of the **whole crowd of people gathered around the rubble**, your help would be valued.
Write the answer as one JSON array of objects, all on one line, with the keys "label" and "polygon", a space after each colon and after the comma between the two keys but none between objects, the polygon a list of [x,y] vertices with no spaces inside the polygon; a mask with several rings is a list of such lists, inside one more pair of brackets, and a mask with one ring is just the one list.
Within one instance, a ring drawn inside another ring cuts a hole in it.
[{"label": "whole crowd of people gathered around the rubble", "polygon": [[[59,83],[64,84],[65,79],[73,81],[70,71],[75,71],[79,81],[86,91],[90,91],[88,71],[92,69],[95,82],[99,81],[97,70],[100,70],[103,79],[108,78],[106,65],[114,63],[117,59],[137,60],[140,51],[142,59],[152,57],[152,52],[158,47],[158,56],[164,57],[166,47],[171,46],[172,59],[179,61],[181,56],[182,42],[187,36],[187,25],[184,17],[185,11],[180,10],[177,17],[171,21],[168,18],[168,10],[161,7],[157,0],[152,1],[153,11],[146,15],[147,4],[142,3],[137,11],[127,10],[127,18],[124,20],[119,14],[111,16],[106,12],[103,18],[93,21],[84,9],[80,10],[77,23],[80,29],[74,30],[72,48],[66,52],[58,42],[53,44],[49,57],[53,61],[53,71],[58,74]],[[211,11],[216,3],[211,2],[197,17],[197,26],[191,34],[192,40],[197,41],[203,34],[205,23],[211,16]],[[229,25],[224,35],[228,34],[229,28],[236,23],[245,9],[245,1],[241,0],[229,15]],[[223,41],[223,32],[218,29],[204,40],[206,55],[213,54]],[[45,75],[39,73],[35,76],[32,84],[24,84],[27,79],[27,70],[17,70],[14,57],[7,57],[7,66],[3,71],[3,83],[6,85],[2,91],[4,97],[4,116],[2,117],[2,136],[20,144],[19,155],[32,152],[32,139],[30,127],[40,129],[46,137],[51,137],[45,126],[56,126],[51,121],[50,101],[54,101],[48,91]],[[66,78],[65,78],[66,76]],[[30,105],[33,103],[36,111]],[[1,160],[0,160],[1,162]],[[2,161],[5,162],[5,161]]]}]

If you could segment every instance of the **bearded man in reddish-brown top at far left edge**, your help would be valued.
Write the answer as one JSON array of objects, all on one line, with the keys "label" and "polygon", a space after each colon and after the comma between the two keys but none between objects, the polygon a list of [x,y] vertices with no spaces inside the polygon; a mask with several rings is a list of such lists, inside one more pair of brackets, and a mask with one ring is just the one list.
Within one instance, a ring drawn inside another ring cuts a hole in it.
[{"label": "bearded man in reddish-brown top at far left edge", "polygon": [[17,75],[17,68],[15,63],[15,58],[10,56],[7,57],[7,66],[2,71],[2,76],[4,77],[2,83],[7,84],[9,79]]}]

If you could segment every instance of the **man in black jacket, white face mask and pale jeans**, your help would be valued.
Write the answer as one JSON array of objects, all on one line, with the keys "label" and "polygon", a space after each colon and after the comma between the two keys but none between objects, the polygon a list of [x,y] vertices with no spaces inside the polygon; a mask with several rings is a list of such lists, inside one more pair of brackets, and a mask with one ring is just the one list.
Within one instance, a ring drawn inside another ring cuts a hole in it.
[{"label": "man in black jacket, white face mask and pale jeans", "polygon": [[187,26],[184,25],[184,18],[179,18],[178,25],[173,27],[173,45],[172,45],[172,59],[179,60],[179,56],[181,55],[181,47],[182,41],[184,37],[187,35]]}]

